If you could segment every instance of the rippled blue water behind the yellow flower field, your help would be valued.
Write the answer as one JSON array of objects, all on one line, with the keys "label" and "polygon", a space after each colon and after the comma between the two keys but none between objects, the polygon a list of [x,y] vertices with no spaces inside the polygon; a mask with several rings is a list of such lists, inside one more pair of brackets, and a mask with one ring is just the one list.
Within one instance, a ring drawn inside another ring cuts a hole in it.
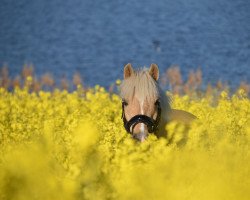
[{"label": "rippled blue water behind the yellow flower field", "polygon": [[248,0],[1,0],[0,65],[108,86],[124,64],[157,63],[205,82],[250,82]]}]

